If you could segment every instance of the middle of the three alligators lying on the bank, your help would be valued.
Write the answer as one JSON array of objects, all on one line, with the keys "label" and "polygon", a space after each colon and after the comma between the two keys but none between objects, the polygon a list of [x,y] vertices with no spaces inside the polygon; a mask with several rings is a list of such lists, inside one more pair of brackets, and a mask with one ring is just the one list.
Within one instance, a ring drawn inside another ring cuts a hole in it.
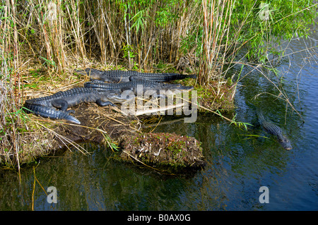
[{"label": "middle of the three alligators lying on the bank", "polygon": [[90,87],[95,90],[109,91],[116,94],[122,93],[125,90],[131,90],[137,95],[139,90],[142,90],[143,93],[146,91],[151,91],[149,94],[160,94],[160,90],[192,90],[192,86],[182,86],[179,84],[166,84],[158,83],[150,80],[139,80],[139,81],[130,81],[127,83],[102,83],[102,82],[86,82],[84,87]]}]

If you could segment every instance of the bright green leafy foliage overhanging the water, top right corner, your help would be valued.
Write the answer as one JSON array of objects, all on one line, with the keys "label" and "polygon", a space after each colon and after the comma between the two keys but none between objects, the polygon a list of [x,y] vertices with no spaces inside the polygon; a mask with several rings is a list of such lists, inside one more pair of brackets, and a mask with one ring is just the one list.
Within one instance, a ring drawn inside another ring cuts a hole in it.
[{"label": "bright green leafy foliage overhanging the water, top right corner", "polygon": [[247,59],[265,62],[267,54],[281,55],[276,46],[293,37],[307,37],[317,18],[314,1],[236,1],[230,25],[230,39],[247,43]]}]

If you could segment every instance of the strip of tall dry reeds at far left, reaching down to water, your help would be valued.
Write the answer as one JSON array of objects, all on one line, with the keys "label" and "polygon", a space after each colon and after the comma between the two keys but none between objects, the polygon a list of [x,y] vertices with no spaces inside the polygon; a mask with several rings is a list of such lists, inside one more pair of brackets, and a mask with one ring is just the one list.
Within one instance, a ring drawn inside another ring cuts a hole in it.
[{"label": "strip of tall dry reeds at far left, reaching down to water", "polygon": [[[1,23],[1,83],[0,83],[0,132],[1,132],[1,156],[8,162],[13,155],[18,159],[19,116],[16,112],[20,105],[21,82],[18,68],[20,66],[20,50],[18,42],[18,30],[16,26],[16,7],[7,1],[6,8],[1,8],[4,23]],[[19,165],[19,163],[18,163]],[[20,168],[19,168],[20,169]]]}]

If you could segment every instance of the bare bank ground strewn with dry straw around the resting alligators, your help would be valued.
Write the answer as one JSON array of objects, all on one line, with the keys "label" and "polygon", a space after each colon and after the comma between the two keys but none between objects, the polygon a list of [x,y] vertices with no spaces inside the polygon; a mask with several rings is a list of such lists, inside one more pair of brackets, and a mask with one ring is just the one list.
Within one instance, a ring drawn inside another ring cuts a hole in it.
[{"label": "bare bank ground strewn with dry straw around the resting alligators", "polygon": [[[83,78],[82,80],[77,79],[76,84],[83,83],[84,81]],[[54,80],[54,82],[58,82],[58,80]],[[193,85],[194,82],[195,80],[182,80],[178,83]],[[31,81],[27,83],[31,83]],[[44,83],[45,81],[39,84],[39,86],[44,85]],[[50,85],[54,86],[54,83],[52,82]],[[63,84],[59,83],[59,86],[61,85]],[[65,87],[70,86],[72,85],[65,84]],[[213,96],[213,86],[211,86],[210,90],[203,87],[198,88],[198,86],[195,85],[194,90],[198,93],[199,113],[206,111],[206,108],[211,109],[213,106],[216,106],[216,109],[225,106],[225,111],[234,108],[233,93],[231,92],[230,85],[223,85],[224,92],[219,96]],[[38,89],[37,92],[45,92],[45,90]],[[54,90],[51,92],[54,93]],[[209,95],[206,95],[207,92]],[[26,95],[25,99],[36,96],[32,94],[31,88],[24,90],[24,94]],[[201,108],[201,105],[204,107]],[[232,105],[232,108],[229,105]],[[22,128],[18,128],[20,151],[18,154],[16,152],[16,154],[11,153],[9,156],[5,152],[1,152],[1,167],[16,168],[18,166],[19,168],[23,164],[32,164],[38,158],[52,154],[68,145],[76,145],[76,142],[97,142],[98,144],[107,145],[105,135],[108,135],[109,140],[118,146],[119,137],[129,133],[142,133],[139,128],[136,128],[136,123],[139,123],[138,116],[124,116],[124,114],[120,113],[120,110],[114,107],[98,107],[94,103],[82,103],[76,107],[72,107],[72,109],[75,110],[74,116],[83,121],[80,126],[65,123],[65,121],[51,120],[28,114],[29,118],[24,118],[22,124],[20,124]],[[198,158],[201,158],[201,156]],[[11,163],[8,164],[8,162]]]}]

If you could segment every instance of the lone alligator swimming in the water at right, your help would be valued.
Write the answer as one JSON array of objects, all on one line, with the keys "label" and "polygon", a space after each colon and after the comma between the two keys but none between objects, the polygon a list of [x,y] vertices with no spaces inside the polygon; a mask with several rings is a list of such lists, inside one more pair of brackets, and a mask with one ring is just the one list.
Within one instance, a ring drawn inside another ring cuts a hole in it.
[{"label": "lone alligator swimming in the water at right", "polygon": [[276,126],[271,121],[266,121],[264,115],[258,109],[257,116],[259,117],[259,123],[261,123],[261,126],[264,128],[264,130],[271,135],[276,135],[278,142],[285,150],[291,150],[293,148],[288,138],[283,135],[283,132],[279,126]]}]

